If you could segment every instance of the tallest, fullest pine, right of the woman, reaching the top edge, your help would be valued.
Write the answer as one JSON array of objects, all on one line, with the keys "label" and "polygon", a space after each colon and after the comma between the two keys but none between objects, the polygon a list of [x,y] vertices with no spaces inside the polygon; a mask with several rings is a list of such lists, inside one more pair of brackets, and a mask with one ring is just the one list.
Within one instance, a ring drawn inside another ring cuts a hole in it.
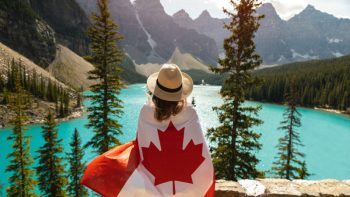
[{"label": "tallest, fullest pine, right of the woman, reaching the top edge", "polygon": [[213,108],[221,125],[209,129],[207,137],[217,178],[237,180],[262,175],[256,168],[259,159],[255,156],[261,149],[258,141],[261,135],[252,129],[262,123],[257,118],[261,107],[249,107],[244,102],[246,91],[259,84],[251,72],[261,64],[254,37],[263,16],[256,14],[256,8],[261,5],[258,0],[241,0],[239,4],[231,0],[230,3],[236,12],[224,9],[231,17],[225,24],[231,33],[224,40],[226,57],[219,60],[221,67],[212,68],[220,75],[228,75],[220,92],[224,104]]}]

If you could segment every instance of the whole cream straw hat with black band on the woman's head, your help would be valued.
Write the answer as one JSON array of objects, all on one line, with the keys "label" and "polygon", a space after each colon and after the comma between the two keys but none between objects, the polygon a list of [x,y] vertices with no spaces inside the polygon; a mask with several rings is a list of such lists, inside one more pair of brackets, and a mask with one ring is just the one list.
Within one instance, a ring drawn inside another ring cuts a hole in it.
[{"label": "whole cream straw hat with black band on the woman's head", "polygon": [[175,64],[164,64],[159,72],[147,79],[147,87],[153,95],[166,101],[180,101],[193,90],[192,78],[181,72]]}]

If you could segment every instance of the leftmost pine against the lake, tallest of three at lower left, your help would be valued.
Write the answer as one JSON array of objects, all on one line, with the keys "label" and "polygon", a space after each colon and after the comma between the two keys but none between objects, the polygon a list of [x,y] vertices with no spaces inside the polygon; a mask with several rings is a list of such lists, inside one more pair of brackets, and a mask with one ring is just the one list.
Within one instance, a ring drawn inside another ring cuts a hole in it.
[{"label": "leftmost pine against the lake, tallest of three at lower left", "polygon": [[6,172],[10,172],[11,176],[8,180],[9,187],[7,190],[8,196],[36,196],[33,192],[36,186],[34,180],[35,172],[31,169],[33,159],[30,156],[30,136],[24,135],[26,128],[24,127],[27,117],[25,116],[24,109],[24,92],[20,85],[20,73],[19,70],[14,68],[16,76],[15,96],[11,108],[15,112],[15,117],[11,120],[11,124],[14,125],[13,133],[7,139],[12,140],[13,152],[7,155],[10,159],[10,164],[6,168]]}]

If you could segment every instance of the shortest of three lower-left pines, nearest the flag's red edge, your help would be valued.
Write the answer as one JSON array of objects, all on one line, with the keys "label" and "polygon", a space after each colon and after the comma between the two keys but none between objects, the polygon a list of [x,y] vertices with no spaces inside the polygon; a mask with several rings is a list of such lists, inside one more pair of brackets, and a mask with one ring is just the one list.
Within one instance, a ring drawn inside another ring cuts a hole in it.
[{"label": "shortest of three lower-left pines, nearest the flag's red edge", "polygon": [[74,130],[70,146],[71,152],[67,153],[70,164],[68,194],[72,197],[87,196],[87,190],[80,184],[80,179],[84,174],[85,163],[82,161],[84,151],[81,148],[81,139],[77,129]]}]

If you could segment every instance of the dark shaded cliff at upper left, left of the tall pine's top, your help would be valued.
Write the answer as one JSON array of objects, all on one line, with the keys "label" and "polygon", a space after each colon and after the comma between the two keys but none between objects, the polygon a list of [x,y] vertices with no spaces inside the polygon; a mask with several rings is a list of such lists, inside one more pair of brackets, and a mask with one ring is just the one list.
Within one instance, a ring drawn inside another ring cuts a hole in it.
[{"label": "dark shaded cliff at upper left, left of the tall pine's top", "polygon": [[80,6],[72,0],[29,0],[32,9],[56,32],[57,42],[79,55],[89,51],[86,29],[90,21]]}]

